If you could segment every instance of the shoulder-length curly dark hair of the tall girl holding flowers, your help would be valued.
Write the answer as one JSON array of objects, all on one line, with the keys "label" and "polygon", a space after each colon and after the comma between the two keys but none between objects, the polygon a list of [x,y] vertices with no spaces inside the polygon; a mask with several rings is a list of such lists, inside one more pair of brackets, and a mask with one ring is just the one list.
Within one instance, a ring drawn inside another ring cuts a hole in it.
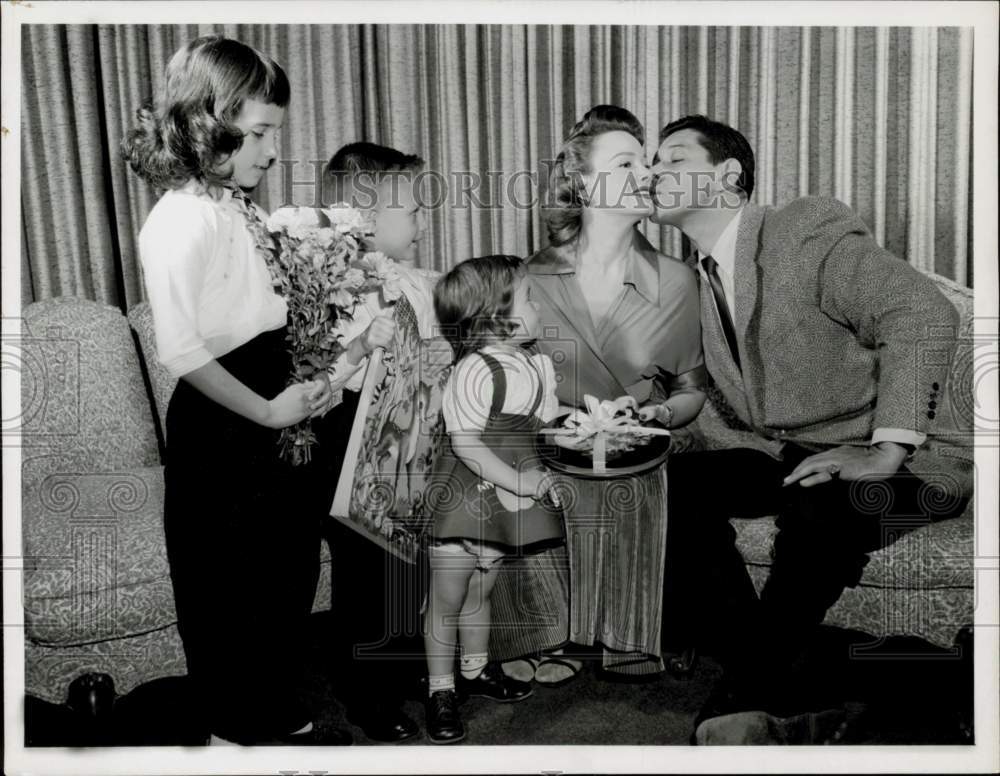
[{"label": "shoulder-length curly dark hair of the tall girl holding flowers", "polygon": [[155,105],[136,111],[138,125],[122,140],[122,157],[154,189],[175,189],[194,178],[223,185],[225,161],[243,145],[233,126],[246,100],[285,107],[291,88],[270,57],[221,35],[205,35],[167,65]]}]

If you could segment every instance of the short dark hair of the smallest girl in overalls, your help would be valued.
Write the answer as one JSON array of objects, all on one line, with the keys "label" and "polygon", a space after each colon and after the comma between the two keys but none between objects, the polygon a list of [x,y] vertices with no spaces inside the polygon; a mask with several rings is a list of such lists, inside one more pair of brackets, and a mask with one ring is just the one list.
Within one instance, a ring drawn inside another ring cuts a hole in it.
[{"label": "short dark hair of the smallest girl in overalls", "polygon": [[514,294],[527,267],[517,256],[480,256],[456,264],[434,287],[434,312],[456,363],[490,339],[517,329]]}]

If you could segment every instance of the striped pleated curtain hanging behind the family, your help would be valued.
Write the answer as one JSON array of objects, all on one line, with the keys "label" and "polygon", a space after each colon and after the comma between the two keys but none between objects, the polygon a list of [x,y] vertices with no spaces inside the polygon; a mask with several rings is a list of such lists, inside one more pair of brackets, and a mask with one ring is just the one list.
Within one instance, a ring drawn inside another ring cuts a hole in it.
[{"label": "striped pleated curtain hanging behind the family", "polygon": [[[286,69],[286,161],[255,192],[313,200],[312,163],[369,140],[423,156],[420,263],[544,245],[547,163],[592,105],[646,126],[706,113],[757,153],[754,200],[835,196],[878,241],[971,285],[972,30],[424,25],[23,28],[24,299],[143,298],[136,236],[155,193],[118,154],[169,57],[208,32]],[[464,192],[467,192],[463,194]],[[680,255],[680,235],[644,229]]]}]

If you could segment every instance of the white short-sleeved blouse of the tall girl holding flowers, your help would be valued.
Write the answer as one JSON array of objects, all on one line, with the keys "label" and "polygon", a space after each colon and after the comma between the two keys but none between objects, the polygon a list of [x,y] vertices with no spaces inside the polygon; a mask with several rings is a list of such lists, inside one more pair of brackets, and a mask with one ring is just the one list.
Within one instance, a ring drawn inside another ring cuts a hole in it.
[{"label": "white short-sleeved blouse of the tall girl holding flowers", "polygon": [[175,377],[287,323],[228,190],[214,199],[192,182],[165,193],[139,233],[139,253],[157,355]]}]

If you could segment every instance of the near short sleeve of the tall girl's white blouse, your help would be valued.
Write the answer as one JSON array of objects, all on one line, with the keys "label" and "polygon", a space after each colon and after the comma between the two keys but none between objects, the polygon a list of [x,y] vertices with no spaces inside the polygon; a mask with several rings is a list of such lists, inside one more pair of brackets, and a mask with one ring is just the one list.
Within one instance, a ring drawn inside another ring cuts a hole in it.
[{"label": "near short sleeve of the tall girl's white blouse", "polygon": [[165,195],[139,233],[139,254],[160,363],[180,377],[212,360],[198,333],[198,305],[215,244],[211,206]]}]

